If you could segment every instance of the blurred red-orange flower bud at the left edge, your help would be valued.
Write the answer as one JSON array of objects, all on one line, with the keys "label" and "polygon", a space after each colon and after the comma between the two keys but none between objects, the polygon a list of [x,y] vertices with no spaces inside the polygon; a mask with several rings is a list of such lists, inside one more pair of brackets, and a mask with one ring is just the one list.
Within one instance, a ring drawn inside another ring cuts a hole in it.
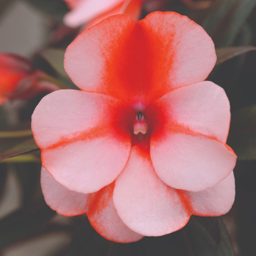
[{"label": "blurred red-orange flower bud at the left edge", "polygon": [[21,55],[0,53],[0,104],[12,99],[27,99],[43,90],[59,88],[43,79],[44,73]]}]

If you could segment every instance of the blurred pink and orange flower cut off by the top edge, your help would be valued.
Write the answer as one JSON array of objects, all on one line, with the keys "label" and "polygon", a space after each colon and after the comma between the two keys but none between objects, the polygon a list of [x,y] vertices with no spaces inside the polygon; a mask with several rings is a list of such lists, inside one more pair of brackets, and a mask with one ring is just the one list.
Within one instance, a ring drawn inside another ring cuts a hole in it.
[{"label": "blurred pink and orange flower cut off by the top edge", "polygon": [[64,0],[71,11],[64,16],[64,23],[77,27],[89,22],[86,27],[102,21],[111,15],[130,14],[135,20],[141,16],[145,0]]}]

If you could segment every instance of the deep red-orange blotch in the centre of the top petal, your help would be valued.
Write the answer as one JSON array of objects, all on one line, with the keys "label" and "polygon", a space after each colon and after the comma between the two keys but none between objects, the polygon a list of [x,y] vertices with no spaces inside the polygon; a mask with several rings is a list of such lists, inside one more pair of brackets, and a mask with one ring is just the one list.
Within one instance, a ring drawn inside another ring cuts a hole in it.
[{"label": "deep red-orange blotch in the centre of the top petal", "polygon": [[[106,81],[104,86],[107,86],[108,93],[131,105],[134,102],[148,105],[162,96],[166,92],[168,83],[166,75],[172,62],[169,56],[164,62],[165,66],[161,65],[160,69],[160,62],[164,57],[162,53],[162,58],[159,60],[159,51],[163,51],[162,43],[159,38],[152,42],[140,22],[132,23],[125,36],[116,42],[118,48],[115,49],[111,45],[109,49],[112,54],[106,60],[104,77]],[[156,53],[154,48],[157,44]],[[116,90],[116,85],[119,90]]]}]

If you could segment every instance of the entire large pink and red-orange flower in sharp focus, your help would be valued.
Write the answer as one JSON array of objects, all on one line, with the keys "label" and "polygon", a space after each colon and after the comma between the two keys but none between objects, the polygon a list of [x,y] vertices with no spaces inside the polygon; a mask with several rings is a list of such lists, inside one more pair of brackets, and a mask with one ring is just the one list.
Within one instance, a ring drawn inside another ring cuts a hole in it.
[{"label": "entire large pink and red-orange flower in sharp focus", "polygon": [[32,116],[41,184],[57,213],[86,213],[128,243],[179,230],[234,202],[230,106],[204,81],[216,61],[206,32],[177,13],[109,17],[68,47],[81,90],[48,94]]}]

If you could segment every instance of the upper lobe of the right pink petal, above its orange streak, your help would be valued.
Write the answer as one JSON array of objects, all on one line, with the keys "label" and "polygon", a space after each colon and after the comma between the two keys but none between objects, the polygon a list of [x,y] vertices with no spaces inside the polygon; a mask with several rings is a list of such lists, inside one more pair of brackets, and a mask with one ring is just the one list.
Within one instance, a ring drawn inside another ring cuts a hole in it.
[{"label": "upper lobe of the right pink petal, above its orange streak", "polygon": [[161,119],[158,114],[158,122],[162,125],[155,134],[170,127],[182,126],[226,143],[230,104],[225,91],[213,82],[203,81],[173,90],[157,99],[150,108],[152,111],[158,109],[163,114]]}]

